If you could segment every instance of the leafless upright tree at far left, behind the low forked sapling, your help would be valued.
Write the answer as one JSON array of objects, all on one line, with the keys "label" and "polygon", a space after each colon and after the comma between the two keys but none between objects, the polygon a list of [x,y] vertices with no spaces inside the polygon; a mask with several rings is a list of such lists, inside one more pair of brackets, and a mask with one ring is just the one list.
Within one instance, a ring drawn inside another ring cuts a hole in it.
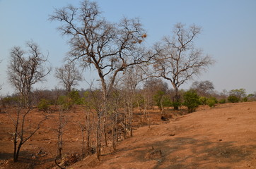
[{"label": "leafless upright tree at far left, behind the low forked sapling", "polygon": [[33,84],[45,80],[50,68],[45,67],[45,57],[35,42],[26,43],[28,51],[14,46],[11,49],[11,60],[8,65],[8,80],[21,95],[25,106],[30,104],[30,94]]}]

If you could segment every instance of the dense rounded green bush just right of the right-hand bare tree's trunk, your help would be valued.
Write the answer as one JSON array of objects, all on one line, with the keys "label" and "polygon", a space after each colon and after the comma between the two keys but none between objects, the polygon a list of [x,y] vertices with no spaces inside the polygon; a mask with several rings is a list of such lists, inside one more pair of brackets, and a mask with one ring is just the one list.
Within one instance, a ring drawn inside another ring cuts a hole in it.
[{"label": "dense rounded green bush just right of the right-hand bare tree's trunk", "polygon": [[183,99],[183,105],[187,107],[189,113],[195,111],[200,105],[199,96],[194,90],[189,90],[185,92],[183,95]]}]

